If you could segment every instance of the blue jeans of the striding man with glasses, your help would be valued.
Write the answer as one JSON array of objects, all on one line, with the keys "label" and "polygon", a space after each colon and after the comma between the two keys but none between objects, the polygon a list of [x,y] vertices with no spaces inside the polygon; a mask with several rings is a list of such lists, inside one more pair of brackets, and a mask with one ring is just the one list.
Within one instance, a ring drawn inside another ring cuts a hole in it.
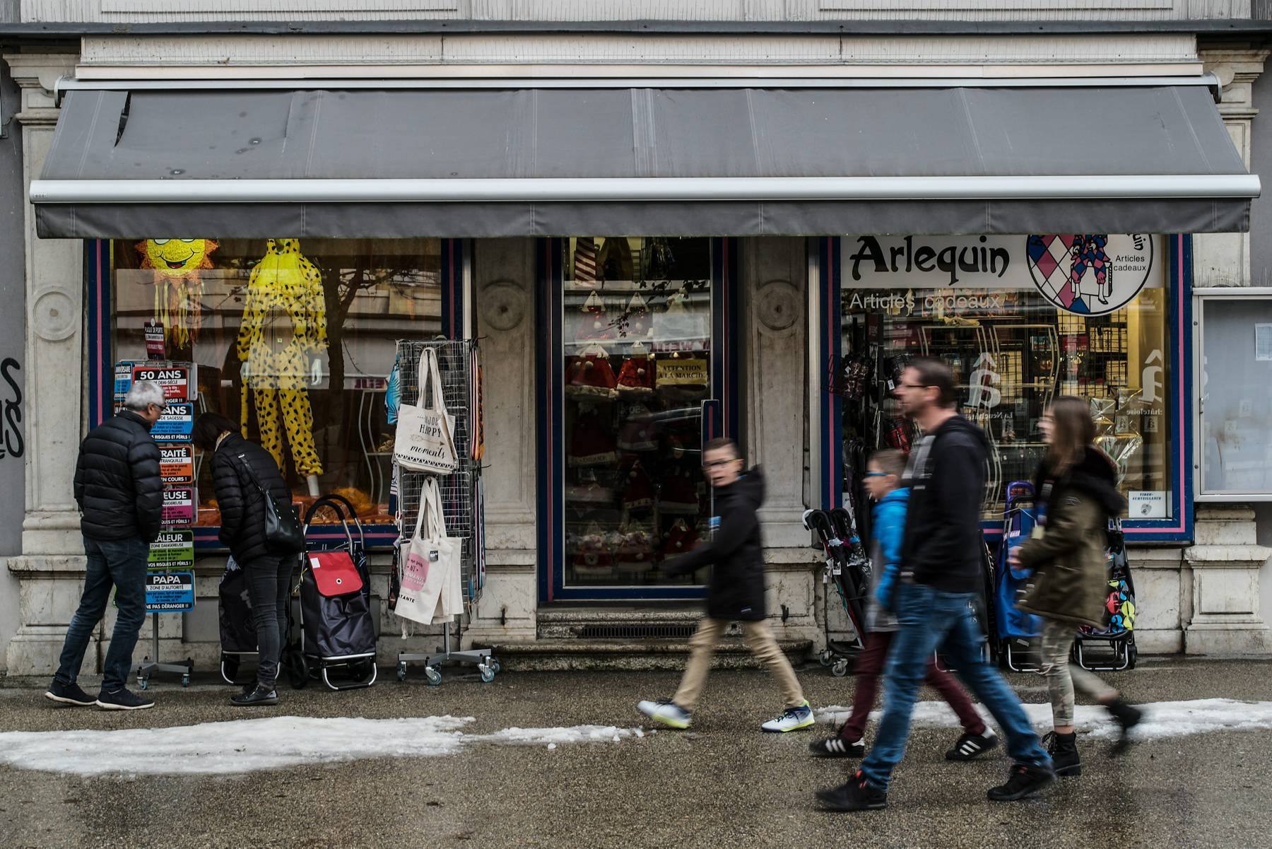
[{"label": "blue jeans of the striding man with glasses", "polygon": [[937,647],[943,647],[954,662],[958,677],[999,722],[1007,738],[1007,754],[1020,764],[1051,766],[1051,756],[1038,742],[1020,699],[999,671],[985,662],[981,652],[985,635],[972,619],[972,593],[940,592],[923,584],[901,584],[897,588],[901,630],[888,658],[883,719],[879,720],[870,754],[861,761],[861,773],[871,787],[887,790],[893,768],[906,754],[918,685]]}]

